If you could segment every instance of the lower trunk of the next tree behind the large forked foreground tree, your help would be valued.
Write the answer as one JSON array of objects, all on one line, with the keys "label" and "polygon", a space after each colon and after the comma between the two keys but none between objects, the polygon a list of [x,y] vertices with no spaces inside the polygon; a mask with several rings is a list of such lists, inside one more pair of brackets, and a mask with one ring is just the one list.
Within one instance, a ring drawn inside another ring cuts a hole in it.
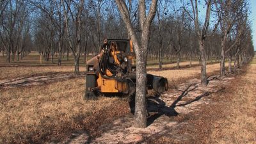
[{"label": "lower trunk of the next tree behind the large forked foreground tree", "polygon": [[207,74],[206,74],[206,53],[204,49],[204,39],[199,40],[200,59],[201,59],[201,84],[207,86]]}]

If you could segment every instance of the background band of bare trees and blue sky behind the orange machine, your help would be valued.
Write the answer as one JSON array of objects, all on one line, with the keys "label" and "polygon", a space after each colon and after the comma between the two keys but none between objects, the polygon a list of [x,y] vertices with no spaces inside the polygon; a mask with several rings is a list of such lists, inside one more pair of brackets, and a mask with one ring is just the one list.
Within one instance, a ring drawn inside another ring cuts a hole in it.
[{"label": "background band of bare trees and blue sky behind the orange machine", "polygon": [[[139,2],[124,2],[136,35],[140,35]],[[199,4],[157,1],[147,55],[159,60],[160,69],[163,58],[175,58],[177,68],[182,58],[220,60],[221,76],[225,75],[225,60],[230,61],[228,72],[232,71],[231,61],[235,61],[234,68],[250,61],[254,52],[248,1],[202,1],[205,13],[199,12]],[[149,6],[146,1],[147,11]],[[88,54],[97,54],[104,38],[131,38],[115,1],[106,0],[1,1],[0,34],[0,52],[8,63],[38,51],[52,63],[54,55],[58,56],[56,65],[61,65],[64,56],[68,60],[72,54],[77,74],[81,55],[85,61]]]}]

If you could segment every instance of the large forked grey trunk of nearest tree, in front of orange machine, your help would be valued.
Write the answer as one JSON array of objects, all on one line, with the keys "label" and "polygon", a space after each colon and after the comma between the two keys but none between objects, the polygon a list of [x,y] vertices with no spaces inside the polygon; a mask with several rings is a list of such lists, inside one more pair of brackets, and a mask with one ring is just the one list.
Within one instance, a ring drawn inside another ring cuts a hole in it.
[{"label": "large forked grey trunk of nearest tree, in front of orange machine", "polygon": [[148,15],[146,15],[145,1],[139,1],[139,23],[141,35],[137,36],[135,29],[131,24],[127,5],[124,1],[115,0],[118,10],[122,15],[125,26],[131,36],[136,54],[136,97],[135,97],[135,126],[147,127],[147,104],[146,104],[146,81],[147,81],[147,52],[150,37],[150,25],[156,14],[157,0],[152,0]]}]

